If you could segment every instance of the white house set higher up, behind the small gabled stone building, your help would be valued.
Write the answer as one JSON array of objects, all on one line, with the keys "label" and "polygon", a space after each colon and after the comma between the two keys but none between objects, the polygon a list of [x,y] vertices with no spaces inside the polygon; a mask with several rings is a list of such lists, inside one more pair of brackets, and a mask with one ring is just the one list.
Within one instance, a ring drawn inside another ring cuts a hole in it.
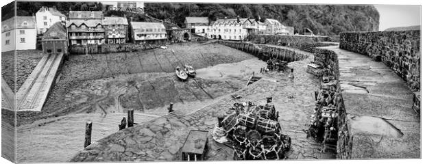
[{"label": "white house set higher up, behind the small gabled stone building", "polygon": [[65,24],[66,16],[56,9],[43,6],[36,12],[37,34],[45,33],[51,25],[57,22]]}]

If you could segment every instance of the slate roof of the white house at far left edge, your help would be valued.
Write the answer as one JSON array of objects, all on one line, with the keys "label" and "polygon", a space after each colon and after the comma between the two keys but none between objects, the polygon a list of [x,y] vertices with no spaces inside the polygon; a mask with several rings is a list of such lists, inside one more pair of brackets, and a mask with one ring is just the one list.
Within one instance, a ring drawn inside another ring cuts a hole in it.
[{"label": "slate roof of the white house at far left edge", "polygon": [[[15,26],[16,18],[16,26]],[[26,23],[26,25],[25,25]],[[35,29],[36,18],[34,16],[16,16],[1,22],[1,32],[10,31],[12,29]]]}]

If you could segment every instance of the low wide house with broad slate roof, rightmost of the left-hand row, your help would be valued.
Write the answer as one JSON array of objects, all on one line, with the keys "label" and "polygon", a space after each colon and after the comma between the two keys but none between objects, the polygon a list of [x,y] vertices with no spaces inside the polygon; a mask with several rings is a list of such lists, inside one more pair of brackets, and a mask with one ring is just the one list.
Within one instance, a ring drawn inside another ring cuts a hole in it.
[{"label": "low wide house with broad slate roof, rightmost of the left-hand row", "polygon": [[167,42],[164,24],[151,22],[131,22],[133,42],[144,44],[162,44]]}]

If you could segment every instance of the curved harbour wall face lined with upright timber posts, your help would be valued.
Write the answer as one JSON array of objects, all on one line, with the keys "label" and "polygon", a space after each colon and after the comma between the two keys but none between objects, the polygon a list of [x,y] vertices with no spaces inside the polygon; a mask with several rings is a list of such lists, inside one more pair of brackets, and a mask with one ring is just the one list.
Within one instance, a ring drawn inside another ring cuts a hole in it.
[{"label": "curved harbour wall face lined with upright timber posts", "polygon": [[223,40],[219,40],[218,43],[223,44],[225,46],[230,46],[234,49],[245,51],[246,53],[251,53],[259,59],[262,59],[263,61],[267,61],[270,57],[272,57],[278,58],[283,61],[291,62],[306,59],[308,57],[301,53],[291,51],[290,49],[282,49],[277,46],[267,46],[248,42],[232,42]]}]

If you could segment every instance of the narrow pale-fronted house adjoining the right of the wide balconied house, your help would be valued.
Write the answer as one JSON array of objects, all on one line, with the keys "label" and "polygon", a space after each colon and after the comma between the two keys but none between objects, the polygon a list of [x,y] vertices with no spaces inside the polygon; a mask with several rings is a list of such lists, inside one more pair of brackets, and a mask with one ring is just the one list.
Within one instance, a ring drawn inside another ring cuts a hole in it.
[{"label": "narrow pale-fronted house adjoining the right of the wide balconied house", "polygon": [[106,43],[120,44],[128,41],[128,22],[125,17],[104,17],[102,25],[105,29]]}]

